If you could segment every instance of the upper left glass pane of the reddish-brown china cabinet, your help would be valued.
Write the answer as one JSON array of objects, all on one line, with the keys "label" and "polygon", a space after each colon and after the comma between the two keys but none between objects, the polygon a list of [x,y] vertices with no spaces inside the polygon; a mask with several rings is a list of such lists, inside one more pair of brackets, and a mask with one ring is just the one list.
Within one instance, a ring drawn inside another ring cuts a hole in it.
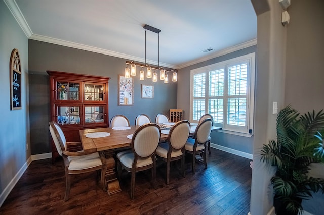
[{"label": "upper left glass pane of the reddish-brown china cabinet", "polygon": [[80,100],[80,83],[56,81],[56,100]]}]

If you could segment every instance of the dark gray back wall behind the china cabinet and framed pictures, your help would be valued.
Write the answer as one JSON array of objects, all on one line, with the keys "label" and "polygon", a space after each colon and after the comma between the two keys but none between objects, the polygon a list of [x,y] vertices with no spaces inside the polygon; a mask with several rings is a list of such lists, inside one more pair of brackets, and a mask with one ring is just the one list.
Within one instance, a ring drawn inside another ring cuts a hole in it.
[{"label": "dark gray back wall behind the china cabinet and framed pictures", "polygon": [[[152,82],[151,79],[140,81],[139,67],[137,67],[137,76],[133,79],[134,105],[118,106],[118,74],[124,75],[126,60],[132,59],[121,59],[91,51],[29,40],[31,154],[51,151],[48,131],[50,107],[47,70],[110,77],[109,120],[114,115],[122,114],[129,119],[131,125],[134,125],[135,117],[144,113],[154,122],[156,114],[169,115],[170,109],[177,108],[177,82],[171,81],[171,74],[169,74],[169,84],[164,84],[160,80]],[[141,98],[141,84],[154,86],[153,99]]]}]

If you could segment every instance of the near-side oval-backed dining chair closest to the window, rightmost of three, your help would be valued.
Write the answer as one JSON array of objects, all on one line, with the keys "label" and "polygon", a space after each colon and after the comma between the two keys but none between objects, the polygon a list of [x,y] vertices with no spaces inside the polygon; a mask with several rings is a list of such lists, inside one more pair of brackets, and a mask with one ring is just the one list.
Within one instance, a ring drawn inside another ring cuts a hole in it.
[{"label": "near-side oval-backed dining chair closest to the window, rightmost of three", "polygon": [[212,119],[208,118],[201,121],[194,132],[194,138],[187,139],[184,147],[185,152],[192,154],[192,174],[195,174],[195,156],[203,153],[205,169],[207,169],[206,160],[206,142],[211,134]]}]

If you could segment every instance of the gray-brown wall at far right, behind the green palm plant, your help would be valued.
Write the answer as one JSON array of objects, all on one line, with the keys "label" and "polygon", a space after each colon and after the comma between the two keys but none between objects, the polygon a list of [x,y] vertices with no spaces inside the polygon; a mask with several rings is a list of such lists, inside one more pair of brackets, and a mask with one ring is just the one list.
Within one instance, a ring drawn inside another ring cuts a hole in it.
[{"label": "gray-brown wall at far right, behind the green palm plant", "polygon": [[[294,0],[288,12],[285,104],[300,113],[319,111],[324,109],[324,1]],[[324,165],[312,172],[324,177]],[[318,205],[323,202],[324,195],[317,193],[304,200],[303,207],[314,215],[322,214]]]}]

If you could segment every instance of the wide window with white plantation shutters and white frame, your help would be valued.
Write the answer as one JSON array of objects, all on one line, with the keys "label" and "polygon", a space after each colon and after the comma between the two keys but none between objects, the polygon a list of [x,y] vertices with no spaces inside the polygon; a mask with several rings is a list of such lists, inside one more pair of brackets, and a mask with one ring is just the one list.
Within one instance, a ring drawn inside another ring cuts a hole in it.
[{"label": "wide window with white plantation shutters and white frame", "polygon": [[252,133],[254,76],[255,53],[191,70],[190,121],[208,113],[223,130]]}]

